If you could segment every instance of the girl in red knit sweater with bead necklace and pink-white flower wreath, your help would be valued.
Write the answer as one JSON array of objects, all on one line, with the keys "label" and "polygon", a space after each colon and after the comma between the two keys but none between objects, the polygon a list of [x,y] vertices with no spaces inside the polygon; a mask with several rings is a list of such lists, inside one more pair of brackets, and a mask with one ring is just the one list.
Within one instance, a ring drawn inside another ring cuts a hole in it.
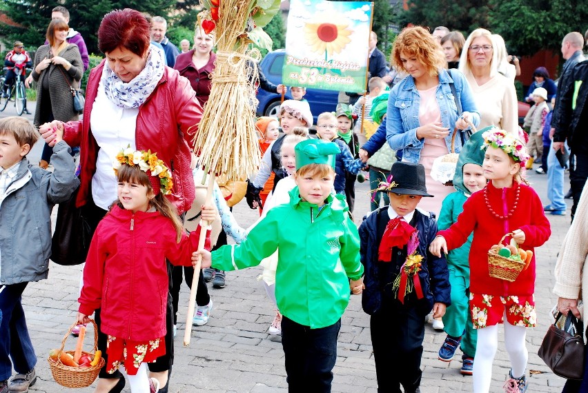
[{"label": "girl in red knit sweater with bead necklace and pink-white flower wreath", "polygon": [[[511,361],[506,392],[527,390],[525,368],[529,354],[525,346],[526,328],[536,325],[535,256],[514,282],[489,276],[488,250],[511,233],[523,250],[539,247],[551,234],[539,196],[523,181],[521,170],[529,155],[525,145],[512,134],[493,128],[482,134],[482,169],[489,183],[465,203],[458,221],[438,232],[431,253],[460,247],[473,231],[469,253],[470,301],[473,328],[478,329],[476,361],[473,363],[473,391],[488,392],[492,363],[498,347],[498,324],[504,323],[504,344]],[[534,253],[533,253],[534,254]]]}]

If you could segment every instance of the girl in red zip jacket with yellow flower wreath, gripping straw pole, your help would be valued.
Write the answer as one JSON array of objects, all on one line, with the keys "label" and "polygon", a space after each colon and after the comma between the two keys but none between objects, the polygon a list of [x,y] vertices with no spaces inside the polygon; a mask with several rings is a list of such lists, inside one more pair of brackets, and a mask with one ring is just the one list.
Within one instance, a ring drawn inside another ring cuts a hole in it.
[{"label": "girl in red zip jacket with yellow flower wreath, gripping straw pole", "polygon": [[[164,196],[173,187],[171,171],[156,154],[121,150],[115,172],[119,199],[92,237],[77,319],[88,323],[88,316],[101,308],[107,372],[120,368],[131,392],[155,393],[159,382],[148,378],[146,363],[166,352],[166,259],[192,265],[199,228],[189,238],[183,231]],[[214,210],[202,210],[202,219],[214,221]]]}]

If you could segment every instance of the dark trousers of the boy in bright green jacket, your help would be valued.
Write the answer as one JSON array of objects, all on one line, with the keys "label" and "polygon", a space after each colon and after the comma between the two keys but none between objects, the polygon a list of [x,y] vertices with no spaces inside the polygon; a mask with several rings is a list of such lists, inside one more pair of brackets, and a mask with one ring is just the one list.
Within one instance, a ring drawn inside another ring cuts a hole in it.
[{"label": "dark trousers of the boy in bright green jacket", "polygon": [[282,317],[288,392],[331,392],[340,329],[341,319],[331,326],[311,329]]}]

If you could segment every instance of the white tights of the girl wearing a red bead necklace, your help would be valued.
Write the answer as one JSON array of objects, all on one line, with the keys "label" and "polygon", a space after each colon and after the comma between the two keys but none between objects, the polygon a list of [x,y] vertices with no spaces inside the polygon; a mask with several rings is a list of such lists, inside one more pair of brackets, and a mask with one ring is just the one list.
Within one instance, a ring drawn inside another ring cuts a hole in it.
[{"label": "white tights of the girl wearing a red bead necklace", "polygon": [[[504,346],[509,354],[513,377],[525,374],[529,352],[525,345],[527,328],[513,326],[504,315]],[[498,348],[498,325],[478,329],[476,357],[473,361],[473,392],[487,393],[492,379],[492,363]]]}]

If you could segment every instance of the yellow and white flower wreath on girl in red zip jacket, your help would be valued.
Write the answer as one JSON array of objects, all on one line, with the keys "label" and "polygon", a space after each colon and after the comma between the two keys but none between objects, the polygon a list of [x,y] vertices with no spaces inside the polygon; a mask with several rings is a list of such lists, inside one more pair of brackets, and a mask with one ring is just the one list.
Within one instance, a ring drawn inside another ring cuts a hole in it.
[{"label": "yellow and white flower wreath on girl in red zip jacket", "polygon": [[[164,161],[157,158],[157,153],[152,153],[151,150],[147,150],[146,152],[143,150],[133,150],[133,148],[128,146],[126,149],[121,149],[119,154],[117,154],[116,161],[112,164],[112,169],[115,170],[115,174],[118,174],[122,164],[129,166],[138,165],[139,169],[143,172],[159,178],[159,190],[164,195],[172,193],[172,175]],[[148,172],[151,173],[149,174]],[[157,194],[157,190],[155,190],[157,183],[151,181],[151,184],[154,186],[155,194]]]}]

